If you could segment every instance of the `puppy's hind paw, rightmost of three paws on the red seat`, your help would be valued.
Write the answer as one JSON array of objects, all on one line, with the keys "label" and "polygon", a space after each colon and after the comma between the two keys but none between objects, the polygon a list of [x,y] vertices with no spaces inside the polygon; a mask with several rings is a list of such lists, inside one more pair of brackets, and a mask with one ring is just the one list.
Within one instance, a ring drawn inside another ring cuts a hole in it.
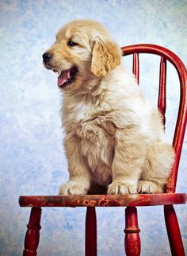
[{"label": "puppy's hind paw, rightmost of three paws on the red seat", "polygon": [[162,193],[162,187],[161,185],[155,183],[151,180],[140,180],[138,183],[138,192],[139,193]]}]

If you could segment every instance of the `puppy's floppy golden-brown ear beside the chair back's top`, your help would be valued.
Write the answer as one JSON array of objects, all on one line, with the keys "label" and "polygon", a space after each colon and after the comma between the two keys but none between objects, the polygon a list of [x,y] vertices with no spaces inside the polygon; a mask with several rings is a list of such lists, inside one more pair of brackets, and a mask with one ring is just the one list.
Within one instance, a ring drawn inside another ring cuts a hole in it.
[{"label": "puppy's floppy golden-brown ear beside the chair back's top", "polygon": [[94,41],[91,72],[95,76],[105,76],[120,64],[120,48],[113,41]]}]

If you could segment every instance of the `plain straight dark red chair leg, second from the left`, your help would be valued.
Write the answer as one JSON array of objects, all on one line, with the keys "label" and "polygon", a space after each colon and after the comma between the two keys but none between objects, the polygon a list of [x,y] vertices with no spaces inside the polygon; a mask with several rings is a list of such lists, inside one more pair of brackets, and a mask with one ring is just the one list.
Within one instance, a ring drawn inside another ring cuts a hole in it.
[{"label": "plain straight dark red chair leg, second from the left", "polygon": [[95,208],[86,211],[86,256],[97,256],[97,217]]}]

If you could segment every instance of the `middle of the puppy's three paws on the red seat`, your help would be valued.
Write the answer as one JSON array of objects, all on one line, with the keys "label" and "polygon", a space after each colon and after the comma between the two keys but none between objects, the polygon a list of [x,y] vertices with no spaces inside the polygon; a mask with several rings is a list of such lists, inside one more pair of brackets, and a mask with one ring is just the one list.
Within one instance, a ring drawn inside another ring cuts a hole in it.
[{"label": "middle of the puppy's three paws on the red seat", "polygon": [[108,194],[118,195],[118,194],[135,194],[137,192],[136,183],[131,182],[113,182],[109,184]]}]

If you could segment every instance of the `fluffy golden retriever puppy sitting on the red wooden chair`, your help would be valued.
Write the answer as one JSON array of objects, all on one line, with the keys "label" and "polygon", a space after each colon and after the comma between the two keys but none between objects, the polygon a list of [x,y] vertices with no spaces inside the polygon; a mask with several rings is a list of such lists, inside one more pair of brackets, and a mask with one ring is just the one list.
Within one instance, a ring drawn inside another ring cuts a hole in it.
[{"label": "fluffy golden retriever puppy sitting on the red wooden chair", "polygon": [[59,194],[86,194],[92,184],[109,194],[163,192],[174,150],[107,30],[97,21],[71,21],[43,59],[63,91],[70,177]]}]

